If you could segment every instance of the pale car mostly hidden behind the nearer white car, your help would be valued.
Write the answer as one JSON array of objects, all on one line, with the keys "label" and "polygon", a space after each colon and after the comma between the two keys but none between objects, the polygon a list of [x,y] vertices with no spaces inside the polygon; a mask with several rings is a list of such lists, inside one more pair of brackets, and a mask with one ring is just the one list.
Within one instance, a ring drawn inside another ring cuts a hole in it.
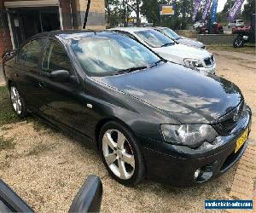
[{"label": "pale car mostly hidden behind the nearer white car", "polygon": [[154,29],[163,33],[166,37],[171,38],[176,43],[181,43],[181,44],[184,44],[184,45],[187,45],[190,47],[194,47],[194,48],[206,49],[206,46],[203,43],[193,41],[192,39],[189,39],[188,37],[180,37],[179,35],[177,35],[176,32],[172,31],[172,29],[170,29],[168,27],[157,26],[157,27],[154,27]]}]

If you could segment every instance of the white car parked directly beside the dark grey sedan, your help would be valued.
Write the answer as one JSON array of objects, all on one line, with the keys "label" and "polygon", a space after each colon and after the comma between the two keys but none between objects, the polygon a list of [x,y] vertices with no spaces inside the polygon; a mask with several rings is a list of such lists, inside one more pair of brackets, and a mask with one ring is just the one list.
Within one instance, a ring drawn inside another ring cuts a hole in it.
[{"label": "white car parked directly beside the dark grey sedan", "polygon": [[139,43],[143,43],[148,49],[165,60],[187,66],[201,74],[216,73],[214,56],[206,49],[196,49],[175,43],[169,37],[152,28],[119,27],[110,30],[120,32]]}]

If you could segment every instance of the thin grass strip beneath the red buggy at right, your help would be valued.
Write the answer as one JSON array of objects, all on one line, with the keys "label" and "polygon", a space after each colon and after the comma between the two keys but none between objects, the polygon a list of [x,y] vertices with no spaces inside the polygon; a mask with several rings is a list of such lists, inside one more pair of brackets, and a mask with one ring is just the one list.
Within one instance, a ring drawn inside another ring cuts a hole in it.
[{"label": "thin grass strip beneath the red buggy at right", "polygon": [[253,44],[246,43],[243,48],[234,48],[232,44],[230,45],[209,45],[207,46],[209,50],[223,50],[235,53],[245,53],[250,55],[256,55],[256,47]]}]

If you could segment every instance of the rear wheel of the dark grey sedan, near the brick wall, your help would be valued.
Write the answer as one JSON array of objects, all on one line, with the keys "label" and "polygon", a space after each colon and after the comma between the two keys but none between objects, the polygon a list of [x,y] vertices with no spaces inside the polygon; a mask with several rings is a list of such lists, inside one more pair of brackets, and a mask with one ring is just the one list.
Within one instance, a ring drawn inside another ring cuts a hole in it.
[{"label": "rear wheel of the dark grey sedan, near the brick wall", "polygon": [[26,116],[26,107],[23,98],[20,95],[19,90],[16,88],[14,83],[9,85],[9,95],[12,106],[16,112],[16,114],[20,118],[24,118]]}]

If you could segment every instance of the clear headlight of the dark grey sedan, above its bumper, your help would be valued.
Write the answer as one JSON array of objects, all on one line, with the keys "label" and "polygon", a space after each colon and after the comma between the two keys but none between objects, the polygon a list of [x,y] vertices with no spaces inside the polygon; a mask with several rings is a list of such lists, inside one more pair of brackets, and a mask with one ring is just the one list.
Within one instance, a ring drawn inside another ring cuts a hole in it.
[{"label": "clear headlight of the dark grey sedan, above its bumper", "polygon": [[191,148],[200,147],[204,141],[211,143],[218,136],[208,124],[162,124],[160,128],[166,142]]}]

